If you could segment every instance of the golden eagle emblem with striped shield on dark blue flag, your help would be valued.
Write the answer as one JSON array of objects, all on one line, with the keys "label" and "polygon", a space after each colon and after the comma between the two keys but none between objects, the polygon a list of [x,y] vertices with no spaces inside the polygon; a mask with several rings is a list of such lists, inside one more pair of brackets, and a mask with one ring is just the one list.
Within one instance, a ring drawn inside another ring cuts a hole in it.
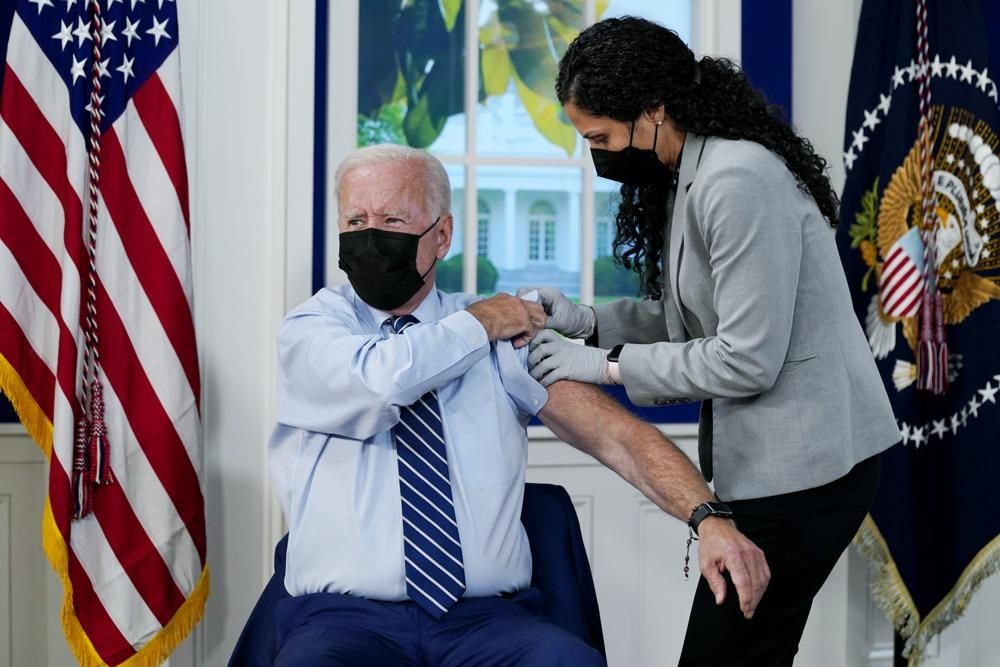
[{"label": "golden eagle emblem with striped shield on dark blue flag", "polygon": [[[936,105],[932,118],[936,230],[929,274],[941,290],[944,324],[950,326],[1000,299],[1000,140],[965,109]],[[878,179],[872,183],[850,229],[852,245],[868,267],[861,288],[868,291],[872,277],[878,286],[865,322],[877,359],[895,349],[897,326],[911,351],[917,351],[925,268],[919,153],[918,140],[881,199]],[[961,358],[953,354],[952,377],[960,365]],[[915,365],[898,362],[894,380],[897,390],[909,387],[916,380]]]}]

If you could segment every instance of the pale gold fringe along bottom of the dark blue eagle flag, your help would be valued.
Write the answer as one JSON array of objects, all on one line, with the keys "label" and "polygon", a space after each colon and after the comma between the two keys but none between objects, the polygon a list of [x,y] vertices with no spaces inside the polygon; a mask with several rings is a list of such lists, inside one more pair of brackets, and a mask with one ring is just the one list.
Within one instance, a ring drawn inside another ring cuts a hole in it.
[{"label": "pale gold fringe along bottom of the dark blue eagle flag", "polygon": [[927,614],[927,618],[921,620],[913,597],[889,552],[889,545],[870,514],[854,537],[854,545],[874,566],[872,598],[906,640],[903,656],[909,659],[910,667],[921,663],[927,643],[961,618],[983,581],[1000,570],[998,535],[975,555],[948,594]]}]

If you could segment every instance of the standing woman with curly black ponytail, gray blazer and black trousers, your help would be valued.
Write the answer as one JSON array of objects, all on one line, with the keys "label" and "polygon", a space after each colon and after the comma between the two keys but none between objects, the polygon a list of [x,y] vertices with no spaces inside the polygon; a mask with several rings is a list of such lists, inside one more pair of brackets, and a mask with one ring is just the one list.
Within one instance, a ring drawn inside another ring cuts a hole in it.
[{"label": "standing woman with curly black ponytail, gray blazer and black trousers", "polygon": [[[556,91],[597,173],[623,183],[615,256],[642,301],[590,308],[538,288],[543,384],[623,384],[637,405],[702,401],[699,463],[763,549],[752,618],[702,577],[682,665],[790,665],[812,599],[870,507],[900,436],[834,243],[826,163],[726,60],[607,19],[574,40]],[[702,572],[711,564],[702,562]]]}]

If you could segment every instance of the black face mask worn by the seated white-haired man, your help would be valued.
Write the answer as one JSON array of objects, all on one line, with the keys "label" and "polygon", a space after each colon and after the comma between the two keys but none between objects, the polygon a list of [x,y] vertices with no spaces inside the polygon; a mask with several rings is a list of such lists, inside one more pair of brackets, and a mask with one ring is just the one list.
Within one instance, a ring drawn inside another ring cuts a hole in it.
[{"label": "black face mask worn by the seated white-haired man", "polygon": [[437,258],[421,275],[417,270],[417,247],[439,220],[422,234],[384,229],[341,232],[340,268],[365,303],[379,310],[395,310],[420,291]]}]

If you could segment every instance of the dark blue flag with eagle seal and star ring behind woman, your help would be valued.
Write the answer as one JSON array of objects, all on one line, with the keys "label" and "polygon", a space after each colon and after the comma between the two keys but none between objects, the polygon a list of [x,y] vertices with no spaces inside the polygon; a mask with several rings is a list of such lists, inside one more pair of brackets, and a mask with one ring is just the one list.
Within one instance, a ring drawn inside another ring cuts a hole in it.
[{"label": "dark blue flag with eagle seal and star ring behind woman", "polygon": [[983,0],[866,0],[838,245],[902,444],[857,543],[918,662],[1000,564],[1000,62]]}]

